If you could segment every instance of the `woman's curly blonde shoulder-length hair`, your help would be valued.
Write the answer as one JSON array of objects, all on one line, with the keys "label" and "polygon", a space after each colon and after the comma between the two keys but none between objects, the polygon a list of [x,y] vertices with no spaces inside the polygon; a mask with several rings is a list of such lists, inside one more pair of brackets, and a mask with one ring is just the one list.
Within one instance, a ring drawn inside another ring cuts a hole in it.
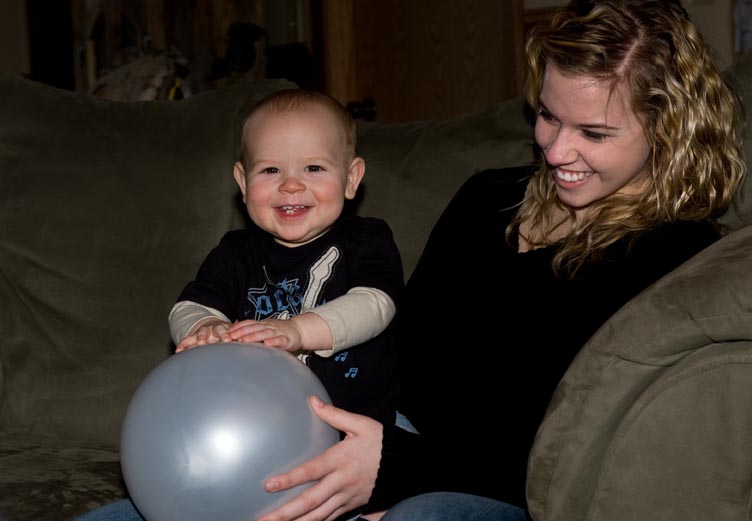
[{"label": "woman's curly blonde shoulder-length hair", "polygon": [[[724,82],[697,27],[676,0],[573,0],[550,24],[534,29],[526,44],[525,96],[537,113],[547,64],[565,74],[625,86],[650,146],[646,190],[614,194],[590,205],[577,223],[565,208],[545,161],[507,236],[529,222],[533,247],[559,242],[553,268],[574,273],[609,244],[661,223],[714,219],[739,187],[744,109]],[[564,208],[571,232],[546,237],[561,223],[549,217]]]}]

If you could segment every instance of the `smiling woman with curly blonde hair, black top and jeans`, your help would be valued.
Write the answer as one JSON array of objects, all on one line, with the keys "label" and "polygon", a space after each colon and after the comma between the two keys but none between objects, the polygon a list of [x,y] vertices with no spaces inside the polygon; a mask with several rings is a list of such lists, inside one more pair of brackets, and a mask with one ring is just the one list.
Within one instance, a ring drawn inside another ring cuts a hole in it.
[{"label": "smiling woman with curly blonde hair, black top and jeans", "polygon": [[528,452],[574,355],[719,238],[742,109],[678,1],[574,0],[526,54],[540,163],[465,183],[398,308],[400,410],[420,434],[312,399],[346,437],[270,478],[316,483],[261,521],[525,519]]}]

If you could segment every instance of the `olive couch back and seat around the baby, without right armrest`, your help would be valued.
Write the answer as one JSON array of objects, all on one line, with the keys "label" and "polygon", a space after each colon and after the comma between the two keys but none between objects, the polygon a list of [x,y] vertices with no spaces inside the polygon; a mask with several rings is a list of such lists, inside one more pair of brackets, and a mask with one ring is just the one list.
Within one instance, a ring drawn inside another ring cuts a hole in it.
[{"label": "olive couch back and seat around the baby, without right armrest", "polygon": [[[167,315],[245,223],[232,176],[241,83],[114,102],[0,74],[0,520],[73,519],[126,497],[118,446],[138,384],[174,350]],[[479,170],[533,160],[521,99],[443,121],[359,122],[351,211],[387,220],[406,275]]]}]

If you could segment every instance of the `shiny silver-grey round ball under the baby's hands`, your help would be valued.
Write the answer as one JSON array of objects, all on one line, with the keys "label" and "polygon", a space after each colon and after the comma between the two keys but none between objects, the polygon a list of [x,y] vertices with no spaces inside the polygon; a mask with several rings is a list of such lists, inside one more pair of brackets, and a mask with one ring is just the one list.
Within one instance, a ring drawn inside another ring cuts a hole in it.
[{"label": "shiny silver-grey round ball under the baby's hands", "polygon": [[285,472],[339,441],[308,406],[330,403],[293,355],[258,344],[214,344],[169,357],[128,404],[123,477],[147,521],[250,521],[300,494],[268,493]]}]

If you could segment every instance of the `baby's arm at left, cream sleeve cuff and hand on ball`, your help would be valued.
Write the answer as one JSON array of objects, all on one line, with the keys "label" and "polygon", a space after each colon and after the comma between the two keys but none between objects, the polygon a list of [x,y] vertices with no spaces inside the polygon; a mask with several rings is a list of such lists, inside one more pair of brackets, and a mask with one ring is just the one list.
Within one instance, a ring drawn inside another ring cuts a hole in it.
[{"label": "baby's arm at left, cream sleeve cuff and hand on ball", "polygon": [[175,352],[217,342],[230,342],[230,320],[208,306],[183,300],[172,307],[169,315],[170,336]]}]

